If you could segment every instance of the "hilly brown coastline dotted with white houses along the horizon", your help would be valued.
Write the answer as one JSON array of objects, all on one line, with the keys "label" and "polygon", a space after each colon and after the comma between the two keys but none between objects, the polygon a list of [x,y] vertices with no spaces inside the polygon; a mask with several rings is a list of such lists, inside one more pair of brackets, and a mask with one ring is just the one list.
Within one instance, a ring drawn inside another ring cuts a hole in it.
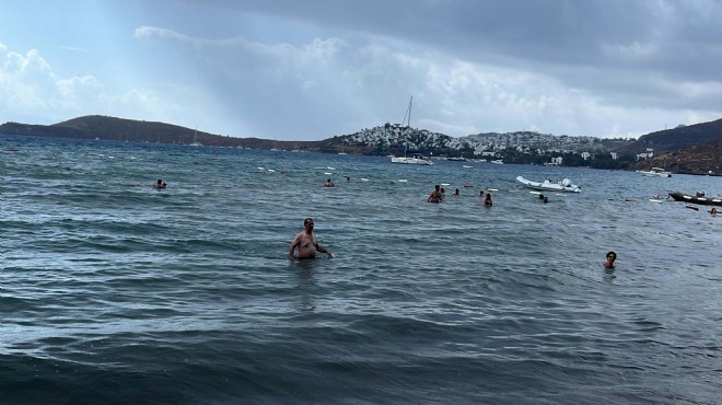
[{"label": "hilly brown coastline dotted with white houses along the horizon", "polygon": [[[640,170],[722,175],[722,119],[678,126],[639,139],[556,136],[533,131],[477,134],[454,138],[385,124],[318,141],[279,141],[213,135],[177,125],[89,115],[53,125],[5,123],[0,135],[30,135],[208,147],[300,150],[321,153],[387,155],[406,148],[435,158],[494,159],[504,163]],[[559,159],[561,158],[561,159]]]}]

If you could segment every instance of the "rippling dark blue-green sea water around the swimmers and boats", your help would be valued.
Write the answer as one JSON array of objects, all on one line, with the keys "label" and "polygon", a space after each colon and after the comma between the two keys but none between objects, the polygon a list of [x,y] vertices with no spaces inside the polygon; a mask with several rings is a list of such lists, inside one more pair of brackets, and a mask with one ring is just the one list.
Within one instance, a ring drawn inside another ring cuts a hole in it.
[{"label": "rippling dark blue-green sea water around the swimmers and boats", "polygon": [[667,198],[722,177],[0,136],[0,404],[722,404],[722,216]]}]

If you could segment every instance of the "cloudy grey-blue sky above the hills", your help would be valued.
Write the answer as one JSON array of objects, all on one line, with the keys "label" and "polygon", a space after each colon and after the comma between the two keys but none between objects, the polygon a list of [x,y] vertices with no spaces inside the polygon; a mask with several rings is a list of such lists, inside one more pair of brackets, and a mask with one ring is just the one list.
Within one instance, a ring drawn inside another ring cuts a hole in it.
[{"label": "cloudy grey-blue sky above the hills", "polygon": [[717,0],[0,0],[0,123],[318,140],[722,118]]}]

